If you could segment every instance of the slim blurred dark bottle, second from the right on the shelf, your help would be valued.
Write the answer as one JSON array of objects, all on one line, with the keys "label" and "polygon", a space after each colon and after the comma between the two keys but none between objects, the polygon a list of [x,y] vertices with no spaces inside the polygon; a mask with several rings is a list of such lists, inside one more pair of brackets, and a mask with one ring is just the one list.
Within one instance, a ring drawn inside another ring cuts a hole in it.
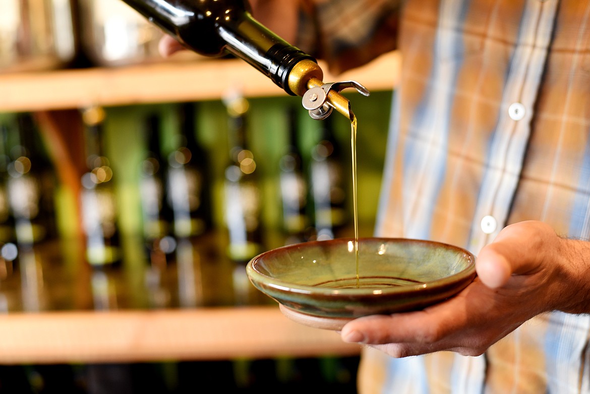
[{"label": "slim blurred dark bottle, second from the right on the shelf", "polygon": [[294,244],[306,240],[308,187],[297,142],[297,111],[293,108],[289,110],[288,122],[289,145],[280,160],[279,179],[285,244]]}]

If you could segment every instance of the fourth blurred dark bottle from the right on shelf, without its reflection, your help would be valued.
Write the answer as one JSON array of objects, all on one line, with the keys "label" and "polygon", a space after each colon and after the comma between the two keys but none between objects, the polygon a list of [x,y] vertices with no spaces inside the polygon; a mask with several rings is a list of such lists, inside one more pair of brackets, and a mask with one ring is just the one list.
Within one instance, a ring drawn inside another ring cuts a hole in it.
[{"label": "fourth blurred dark bottle from the right on shelf, without its reflection", "polygon": [[168,202],[176,238],[195,238],[212,225],[208,155],[196,139],[194,103],[179,109],[178,147],[168,156]]}]

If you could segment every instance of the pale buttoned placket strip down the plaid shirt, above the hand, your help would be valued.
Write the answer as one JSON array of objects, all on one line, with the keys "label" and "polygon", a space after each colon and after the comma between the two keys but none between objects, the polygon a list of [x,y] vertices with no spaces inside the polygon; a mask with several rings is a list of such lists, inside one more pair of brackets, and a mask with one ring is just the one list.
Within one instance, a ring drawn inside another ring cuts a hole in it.
[{"label": "pale buttoned placket strip down the plaid shirt, above the hand", "polygon": [[557,0],[530,0],[520,22],[487,169],[471,224],[469,249],[478,253],[506,225],[530,137],[533,109],[552,37]]}]

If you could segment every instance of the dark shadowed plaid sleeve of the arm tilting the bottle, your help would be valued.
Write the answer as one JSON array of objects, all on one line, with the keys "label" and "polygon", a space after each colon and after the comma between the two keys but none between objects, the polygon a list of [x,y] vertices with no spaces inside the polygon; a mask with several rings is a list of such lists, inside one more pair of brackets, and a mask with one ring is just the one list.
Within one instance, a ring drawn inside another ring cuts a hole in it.
[{"label": "dark shadowed plaid sleeve of the arm tilting the bottle", "polygon": [[297,46],[339,74],[395,50],[402,0],[301,0]]}]

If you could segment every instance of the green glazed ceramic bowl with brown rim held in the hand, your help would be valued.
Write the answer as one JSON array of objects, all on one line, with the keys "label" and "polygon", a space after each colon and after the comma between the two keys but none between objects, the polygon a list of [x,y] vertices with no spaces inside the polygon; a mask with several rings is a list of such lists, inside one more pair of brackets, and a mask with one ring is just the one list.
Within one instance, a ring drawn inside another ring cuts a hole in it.
[{"label": "green glazed ceramic bowl with brown rim held in the hand", "polygon": [[360,238],[310,241],[264,252],[246,267],[251,283],[283,314],[340,330],[371,314],[419,310],[463,290],[476,276],[473,254],[440,242]]}]

